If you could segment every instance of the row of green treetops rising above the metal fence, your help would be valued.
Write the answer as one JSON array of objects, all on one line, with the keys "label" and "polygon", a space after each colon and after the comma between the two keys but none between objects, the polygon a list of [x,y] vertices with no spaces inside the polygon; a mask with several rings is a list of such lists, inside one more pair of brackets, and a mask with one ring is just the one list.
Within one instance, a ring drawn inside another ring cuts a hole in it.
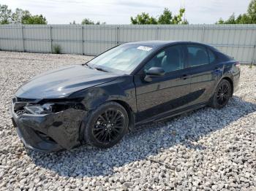
[{"label": "row of green treetops rising above the metal fence", "polygon": [[[161,15],[154,17],[149,15],[146,12],[141,12],[135,17],[130,17],[130,22],[133,25],[178,25],[178,24],[189,24],[189,21],[184,17],[185,9],[181,8],[178,11],[177,15],[173,15],[173,12],[170,9],[165,8]],[[12,12],[12,9],[9,9],[6,4],[0,4],[0,24],[10,24],[10,23],[20,23],[20,24],[47,24],[48,21],[46,18],[40,15],[32,15],[28,10],[15,9],[15,12]],[[227,20],[219,18],[216,24],[255,24],[256,23],[256,0],[252,0],[249,3],[247,12],[240,14],[236,17],[230,15]],[[69,24],[77,24],[74,21]],[[80,23],[82,25],[104,25],[105,22],[100,23],[99,21],[94,22],[89,18],[84,18]]]}]

